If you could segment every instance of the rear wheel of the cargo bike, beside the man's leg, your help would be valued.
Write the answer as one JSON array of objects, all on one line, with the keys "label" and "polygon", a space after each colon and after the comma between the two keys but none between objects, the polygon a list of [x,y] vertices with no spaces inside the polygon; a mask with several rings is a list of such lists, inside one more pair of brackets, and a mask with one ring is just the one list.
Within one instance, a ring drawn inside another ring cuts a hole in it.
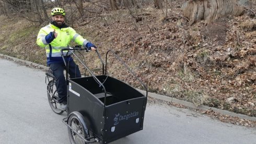
[{"label": "rear wheel of the cargo bike, beside the man's leg", "polygon": [[55,86],[55,82],[54,80],[51,80],[49,83],[48,83],[48,86],[47,86],[47,95],[48,95],[48,101],[49,101],[49,104],[53,110],[54,113],[56,114],[62,114],[64,111],[58,109],[58,107],[60,107],[60,103],[57,103],[56,101],[56,98],[54,97],[57,97],[57,89],[56,89],[56,86]]}]

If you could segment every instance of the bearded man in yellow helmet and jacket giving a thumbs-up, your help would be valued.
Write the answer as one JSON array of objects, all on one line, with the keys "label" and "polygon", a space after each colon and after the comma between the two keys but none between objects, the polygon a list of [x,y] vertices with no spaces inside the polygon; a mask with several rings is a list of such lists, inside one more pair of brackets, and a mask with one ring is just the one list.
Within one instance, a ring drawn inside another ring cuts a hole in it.
[{"label": "bearded man in yellow helmet and jacket giving a thumbs-up", "polygon": [[[96,46],[89,41],[83,39],[81,35],[76,31],[68,27],[65,24],[65,11],[62,8],[53,8],[51,10],[52,21],[50,25],[40,29],[37,36],[37,44],[41,47],[45,47],[47,65],[53,71],[53,75],[56,78],[56,88],[58,92],[57,99],[61,104],[60,109],[66,110],[67,107],[67,86],[63,71],[65,65],[63,58],[61,57],[61,49],[68,46],[69,42],[74,41],[78,45],[83,45],[92,51],[96,50]],[[63,52],[68,65],[68,74],[70,78],[81,77],[78,66],[75,64],[69,52],[66,56],[66,52]]]}]

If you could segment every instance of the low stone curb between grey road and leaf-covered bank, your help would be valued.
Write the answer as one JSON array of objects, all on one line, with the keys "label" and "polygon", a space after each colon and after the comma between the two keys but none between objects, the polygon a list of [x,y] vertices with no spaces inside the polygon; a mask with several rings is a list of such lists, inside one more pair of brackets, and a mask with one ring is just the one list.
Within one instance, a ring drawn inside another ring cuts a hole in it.
[{"label": "low stone curb between grey road and leaf-covered bank", "polygon": [[[32,63],[32,62],[29,62],[29,61],[24,61],[22,59],[18,59],[18,58],[11,57],[11,56],[8,56],[8,55],[0,54],[0,57],[5,57],[5,58],[11,59],[15,62],[18,62],[18,63],[22,63],[22,64],[26,64],[26,65],[32,65],[34,67],[47,69],[46,66],[36,64],[36,63]],[[137,90],[146,95],[146,91],[140,90],[140,89],[137,89]],[[192,102],[179,100],[179,99],[176,99],[176,98],[168,97],[166,95],[161,95],[161,94],[157,94],[157,93],[148,92],[148,97],[152,97],[152,98],[162,100],[162,101],[181,104],[181,105],[190,107],[191,109],[194,109],[194,110],[205,110],[205,111],[213,110],[214,112],[218,112],[218,113],[223,114],[223,115],[235,116],[235,117],[239,117],[239,118],[242,118],[242,119],[249,119],[251,121],[256,121],[256,117],[243,115],[243,114],[238,114],[238,113],[234,113],[234,112],[230,112],[230,111],[226,111],[226,110],[221,110],[221,109],[217,109],[215,107],[209,107],[209,106],[205,106],[205,105],[195,106]]]}]

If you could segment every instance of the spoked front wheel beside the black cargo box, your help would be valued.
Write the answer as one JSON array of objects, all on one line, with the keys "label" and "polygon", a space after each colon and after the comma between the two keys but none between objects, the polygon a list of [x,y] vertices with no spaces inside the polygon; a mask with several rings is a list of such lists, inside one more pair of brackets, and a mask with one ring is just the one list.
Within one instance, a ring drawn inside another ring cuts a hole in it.
[{"label": "spoked front wheel beside the black cargo box", "polygon": [[[73,131],[71,128],[68,128],[68,136],[69,140],[72,144],[85,144],[86,142],[80,137],[83,138],[87,137],[87,134],[85,133],[85,128],[81,123],[81,120],[78,118],[77,115],[71,114],[68,117],[67,124],[72,127],[75,131]],[[75,133],[76,132],[76,133]],[[80,135],[77,135],[77,133]]]}]

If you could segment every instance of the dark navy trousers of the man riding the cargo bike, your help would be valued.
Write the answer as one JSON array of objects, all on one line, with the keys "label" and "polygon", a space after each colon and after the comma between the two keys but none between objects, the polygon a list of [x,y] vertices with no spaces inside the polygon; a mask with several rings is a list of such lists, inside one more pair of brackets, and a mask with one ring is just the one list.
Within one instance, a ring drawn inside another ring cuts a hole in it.
[{"label": "dark navy trousers of the man riding the cargo bike", "polygon": [[[68,74],[70,78],[81,77],[78,65],[74,61],[67,62]],[[52,63],[50,64],[50,69],[53,71],[53,75],[56,78],[56,89],[59,95],[59,102],[65,103],[67,101],[67,85],[66,79],[64,77],[64,63]]]}]

